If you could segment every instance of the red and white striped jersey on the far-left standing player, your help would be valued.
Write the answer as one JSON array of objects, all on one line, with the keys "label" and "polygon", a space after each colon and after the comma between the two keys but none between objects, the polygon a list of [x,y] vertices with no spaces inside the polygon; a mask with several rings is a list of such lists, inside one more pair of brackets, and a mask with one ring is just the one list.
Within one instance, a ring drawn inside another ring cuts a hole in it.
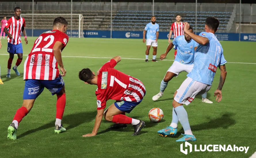
[{"label": "red and white striped jersey on the far-left standing player", "polygon": [[7,36],[7,42],[12,43],[14,45],[18,45],[21,43],[21,28],[25,27],[25,19],[20,16],[19,20],[16,20],[14,16],[9,18],[5,27],[9,28],[9,33],[12,35],[12,39],[9,39]]}]

